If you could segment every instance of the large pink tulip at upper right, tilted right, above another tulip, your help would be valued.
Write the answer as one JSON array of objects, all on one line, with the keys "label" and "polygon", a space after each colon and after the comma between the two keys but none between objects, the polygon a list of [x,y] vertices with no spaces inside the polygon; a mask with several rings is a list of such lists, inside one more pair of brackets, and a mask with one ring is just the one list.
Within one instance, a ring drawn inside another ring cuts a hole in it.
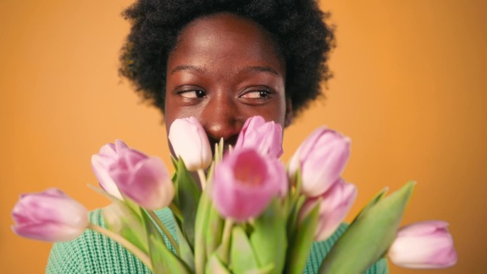
[{"label": "large pink tulip at upper right, tilted right, above another tulip", "polygon": [[289,174],[301,169],[306,196],[320,196],[340,178],[350,154],[350,139],[319,127],[298,147],[289,163]]}]

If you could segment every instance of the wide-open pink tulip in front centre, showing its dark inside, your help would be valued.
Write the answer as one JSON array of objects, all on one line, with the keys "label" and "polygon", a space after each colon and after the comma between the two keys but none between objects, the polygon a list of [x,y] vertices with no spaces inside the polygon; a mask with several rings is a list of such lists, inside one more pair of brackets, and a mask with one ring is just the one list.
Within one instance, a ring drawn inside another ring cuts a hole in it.
[{"label": "wide-open pink tulip in front centre, showing its dark inside", "polygon": [[278,159],[239,149],[216,165],[211,197],[222,216],[246,221],[260,215],[273,197],[285,195],[287,187],[286,171]]}]

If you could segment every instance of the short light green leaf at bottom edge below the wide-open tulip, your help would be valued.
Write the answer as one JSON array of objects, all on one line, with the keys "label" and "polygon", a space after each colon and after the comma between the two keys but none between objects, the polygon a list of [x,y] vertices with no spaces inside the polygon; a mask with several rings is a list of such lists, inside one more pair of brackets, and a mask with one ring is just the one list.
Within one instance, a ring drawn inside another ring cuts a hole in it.
[{"label": "short light green leaf at bottom edge below the wide-open tulip", "polygon": [[234,226],[231,232],[231,265],[234,274],[245,274],[258,270],[258,261],[243,228]]}]

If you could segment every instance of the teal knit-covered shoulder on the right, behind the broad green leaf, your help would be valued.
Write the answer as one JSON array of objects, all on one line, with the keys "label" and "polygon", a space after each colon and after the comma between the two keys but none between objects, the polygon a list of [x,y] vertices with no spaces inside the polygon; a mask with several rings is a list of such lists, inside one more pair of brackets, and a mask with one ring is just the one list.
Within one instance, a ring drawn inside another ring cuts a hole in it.
[{"label": "teal knit-covered shoulder on the right, behind the broad green leaf", "polygon": [[[347,230],[348,225],[346,223],[342,223],[340,227],[337,228],[337,231],[333,233],[330,238],[326,239],[325,241],[315,242],[310,251],[310,255],[308,257],[308,262],[306,263],[305,269],[303,274],[315,274],[318,273],[318,268],[320,268],[320,264],[323,261],[323,258],[330,252],[331,248],[335,244],[335,242],[342,236],[342,234]],[[372,265],[364,274],[387,274],[389,270],[387,268],[387,260],[382,258]]]}]

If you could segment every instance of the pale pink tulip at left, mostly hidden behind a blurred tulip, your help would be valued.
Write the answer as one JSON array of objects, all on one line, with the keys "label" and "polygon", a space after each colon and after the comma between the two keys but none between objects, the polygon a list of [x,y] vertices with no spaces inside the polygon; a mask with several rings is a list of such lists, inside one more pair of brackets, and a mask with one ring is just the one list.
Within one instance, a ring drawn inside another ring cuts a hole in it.
[{"label": "pale pink tulip at left, mostly hidden behind a blurred tulip", "polygon": [[113,164],[120,157],[120,152],[125,149],[128,149],[127,144],[117,139],[115,144],[105,144],[98,154],[91,157],[91,167],[101,188],[118,199],[122,199],[122,194],[107,171],[110,164]]}]

